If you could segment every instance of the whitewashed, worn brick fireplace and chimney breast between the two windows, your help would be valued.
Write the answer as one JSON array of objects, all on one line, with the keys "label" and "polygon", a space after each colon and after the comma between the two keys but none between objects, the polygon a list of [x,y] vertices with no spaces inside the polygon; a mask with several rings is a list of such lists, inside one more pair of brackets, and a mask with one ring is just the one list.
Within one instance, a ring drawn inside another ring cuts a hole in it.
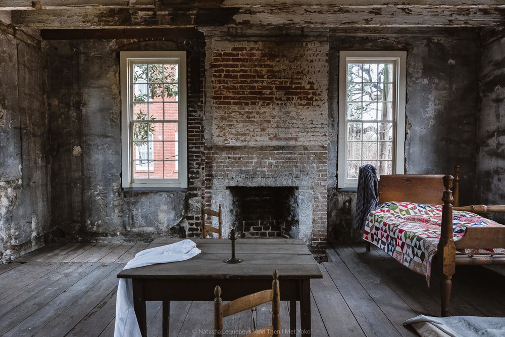
[{"label": "whitewashed, worn brick fireplace and chimney breast between the two windows", "polygon": [[[324,254],[326,40],[274,42],[223,33],[207,41],[207,206],[222,205],[224,235],[239,224],[244,236],[301,238],[315,254]],[[265,219],[248,208],[250,203],[265,208],[268,200],[281,210]]]}]

